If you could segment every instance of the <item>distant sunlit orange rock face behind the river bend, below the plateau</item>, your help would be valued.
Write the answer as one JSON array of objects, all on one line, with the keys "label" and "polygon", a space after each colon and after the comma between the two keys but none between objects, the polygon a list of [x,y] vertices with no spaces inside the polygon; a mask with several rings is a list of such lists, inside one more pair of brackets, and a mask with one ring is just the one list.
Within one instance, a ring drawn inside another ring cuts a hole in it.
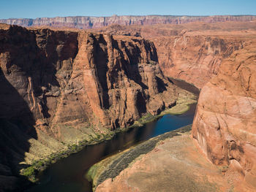
[{"label": "distant sunlit orange rock face behind the river bend, below the plateau", "polygon": [[190,82],[197,88],[203,88],[219,72],[222,60],[244,44],[240,37],[198,36],[186,31],[178,37],[159,38],[154,42],[165,75]]}]

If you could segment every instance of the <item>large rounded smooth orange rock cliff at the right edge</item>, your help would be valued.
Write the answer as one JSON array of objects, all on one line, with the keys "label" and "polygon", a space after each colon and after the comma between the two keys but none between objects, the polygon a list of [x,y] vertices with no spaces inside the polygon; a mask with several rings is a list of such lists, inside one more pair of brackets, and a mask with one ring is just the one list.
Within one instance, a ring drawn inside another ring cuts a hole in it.
[{"label": "large rounded smooth orange rock cliff at the right edge", "polygon": [[[229,165],[255,190],[256,49],[245,45],[223,61],[200,93],[192,135],[217,165]],[[229,174],[227,172],[227,174]],[[240,181],[241,182],[241,181]]]}]

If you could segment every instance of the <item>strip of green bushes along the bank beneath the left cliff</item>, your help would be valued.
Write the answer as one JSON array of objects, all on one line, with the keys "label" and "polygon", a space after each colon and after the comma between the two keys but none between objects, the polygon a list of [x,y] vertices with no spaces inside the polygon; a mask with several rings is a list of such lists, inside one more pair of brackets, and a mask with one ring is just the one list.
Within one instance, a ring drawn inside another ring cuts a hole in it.
[{"label": "strip of green bushes along the bank beneath the left cliff", "polygon": [[172,115],[180,115],[184,112],[189,110],[190,104],[195,104],[197,97],[196,96],[180,96],[175,104],[167,110],[162,111],[159,115],[151,115],[147,113],[139,120],[135,121],[132,126],[127,128],[118,128],[116,131],[110,131],[104,129],[104,131],[94,131],[94,135],[87,137],[86,139],[80,140],[75,144],[68,144],[65,145],[63,150],[59,150],[58,153],[52,153],[47,158],[41,158],[39,160],[32,161],[31,164],[26,168],[20,171],[20,174],[27,177],[31,183],[37,183],[37,174],[39,172],[44,171],[50,164],[56,163],[61,158],[67,158],[67,156],[71,155],[72,153],[78,153],[84,147],[88,145],[95,145],[99,142],[103,142],[108,139],[112,139],[115,134],[122,131],[128,131],[129,128],[140,127],[149,123],[151,121],[157,120],[158,118],[162,117],[166,114]]}]

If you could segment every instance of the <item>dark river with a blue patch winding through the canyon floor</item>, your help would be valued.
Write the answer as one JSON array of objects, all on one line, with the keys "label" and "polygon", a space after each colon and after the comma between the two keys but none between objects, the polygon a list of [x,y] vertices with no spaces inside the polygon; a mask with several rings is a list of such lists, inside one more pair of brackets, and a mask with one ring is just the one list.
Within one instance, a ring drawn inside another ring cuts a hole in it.
[{"label": "dark river with a blue patch winding through the canyon floor", "polygon": [[61,159],[39,174],[39,184],[29,192],[91,192],[91,183],[84,174],[93,165],[114,153],[127,149],[159,134],[173,131],[192,123],[196,104],[190,105],[189,111],[182,115],[164,115],[162,118],[146,123],[139,128],[116,134],[113,139],[97,145],[86,146],[78,153]]}]

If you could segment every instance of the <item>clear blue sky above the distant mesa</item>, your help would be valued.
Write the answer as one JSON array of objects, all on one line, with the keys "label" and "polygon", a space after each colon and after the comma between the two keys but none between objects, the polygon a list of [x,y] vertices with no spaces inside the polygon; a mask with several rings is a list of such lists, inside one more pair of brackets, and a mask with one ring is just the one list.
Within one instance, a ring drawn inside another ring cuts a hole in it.
[{"label": "clear blue sky above the distant mesa", "polygon": [[110,15],[256,15],[256,0],[0,0],[0,18]]}]

